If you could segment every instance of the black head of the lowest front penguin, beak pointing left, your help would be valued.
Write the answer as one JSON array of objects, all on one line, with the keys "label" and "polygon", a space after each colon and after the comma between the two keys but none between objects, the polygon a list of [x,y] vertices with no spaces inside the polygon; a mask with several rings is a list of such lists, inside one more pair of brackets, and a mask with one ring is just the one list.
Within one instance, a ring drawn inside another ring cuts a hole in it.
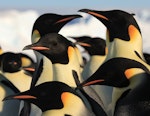
[{"label": "black head of the lowest front penguin, beak pointing left", "polygon": [[4,100],[25,100],[37,105],[44,112],[63,108],[65,101],[69,99],[68,94],[70,93],[76,95],[75,91],[65,83],[52,81],[42,83],[17,95],[8,96]]}]

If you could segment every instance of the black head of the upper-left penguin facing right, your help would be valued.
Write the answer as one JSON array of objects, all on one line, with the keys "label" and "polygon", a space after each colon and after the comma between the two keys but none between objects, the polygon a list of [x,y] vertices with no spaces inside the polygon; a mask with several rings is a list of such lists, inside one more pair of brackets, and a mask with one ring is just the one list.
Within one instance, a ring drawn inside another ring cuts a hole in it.
[{"label": "black head of the upper-left penguin facing right", "polygon": [[54,13],[46,13],[37,18],[32,29],[32,43],[48,33],[58,33],[60,29],[69,21],[81,17],[80,15],[59,15]]}]

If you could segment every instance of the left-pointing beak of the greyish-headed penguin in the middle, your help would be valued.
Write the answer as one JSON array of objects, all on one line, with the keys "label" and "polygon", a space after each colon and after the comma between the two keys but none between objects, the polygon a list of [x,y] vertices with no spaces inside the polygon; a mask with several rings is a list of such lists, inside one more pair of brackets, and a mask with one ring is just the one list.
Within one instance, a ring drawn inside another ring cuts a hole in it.
[{"label": "left-pointing beak of the greyish-headed penguin in the middle", "polygon": [[23,48],[23,50],[28,50],[28,49],[32,49],[32,50],[36,50],[36,51],[49,50],[48,47],[40,46],[40,45],[36,45],[36,44],[27,45]]}]

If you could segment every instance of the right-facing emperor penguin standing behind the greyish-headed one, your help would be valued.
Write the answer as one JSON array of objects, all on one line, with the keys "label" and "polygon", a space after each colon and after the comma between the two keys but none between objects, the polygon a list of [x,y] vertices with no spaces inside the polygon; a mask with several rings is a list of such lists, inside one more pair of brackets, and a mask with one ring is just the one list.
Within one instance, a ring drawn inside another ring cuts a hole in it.
[{"label": "right-facing emperor penguin standing behind the greyish-headed one", "polygon": [[[42,36],[48,33],[58,33],[61,28],[67,24],[69,21],[80,18],[80,15],[72,14],[72,15],[60,15],[54,13],[46,13],[42,14],[37,18],[33,25],[31,41],[32,43],[36,43]],[[40,76],[42,78],[34,80],[33,82],[36,85],[53,80],[53,71],[52,63],[47,57],[43,56],[41,53],[34,51],[37,57],[37,64],[39,67],[37,70],[41,70],[43,73],[35,74],[36,76]],[[41,59],[43,59],[41,61]],[[38,71],[39,72],[39,71]]]}]

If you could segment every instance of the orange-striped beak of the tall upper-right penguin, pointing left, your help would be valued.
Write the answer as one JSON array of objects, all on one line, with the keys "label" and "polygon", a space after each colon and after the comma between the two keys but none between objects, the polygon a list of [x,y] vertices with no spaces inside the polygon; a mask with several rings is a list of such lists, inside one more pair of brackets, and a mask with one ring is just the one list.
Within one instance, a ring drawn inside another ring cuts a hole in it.
[{"label": "orange-striped beak of the tall upper-right penguin, pointing left", "polygon": [[101,18],[101,19],[104,19],[104,20],[109,20],[103,12],[101,11],[95,11],[95,10],[89,10],[89,9],[81,9],[79,10],[79,12],[84,12],[84,13],[88,13],[90,15],[93,15],[95,17],[98,17],[98,18]]}]

